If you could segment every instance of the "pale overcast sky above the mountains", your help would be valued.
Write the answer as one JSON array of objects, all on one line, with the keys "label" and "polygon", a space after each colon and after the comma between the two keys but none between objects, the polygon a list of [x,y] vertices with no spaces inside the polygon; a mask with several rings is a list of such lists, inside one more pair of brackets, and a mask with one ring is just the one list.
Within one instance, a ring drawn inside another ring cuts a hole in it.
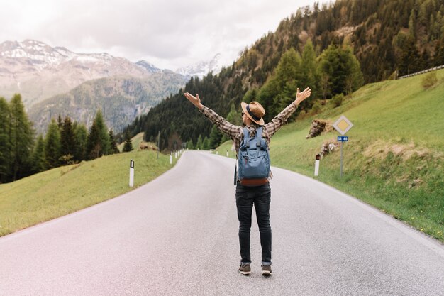
[{"label": "pale overcast sky above the mountains", "polygon": [[[319,1],[323,2],[323,1]],[[231,65],[314,0],[0,0],[0,43],[33,39],[177,70],[221,53]]]}]

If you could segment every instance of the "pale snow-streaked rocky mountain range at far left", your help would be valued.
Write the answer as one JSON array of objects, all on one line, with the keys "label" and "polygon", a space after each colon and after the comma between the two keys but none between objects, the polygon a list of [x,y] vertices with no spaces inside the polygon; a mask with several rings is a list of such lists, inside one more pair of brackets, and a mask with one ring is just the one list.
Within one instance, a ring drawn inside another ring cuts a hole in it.
[{"label": "pale snow-streaked rocky mountain range at far left", "polygon": [[20,93],[29,109],[88,80],[116,75],[144,78],[159,70],[148,62],[130,62],[108,53],[73,53],[35,40],[0,44],[0,96]]}]

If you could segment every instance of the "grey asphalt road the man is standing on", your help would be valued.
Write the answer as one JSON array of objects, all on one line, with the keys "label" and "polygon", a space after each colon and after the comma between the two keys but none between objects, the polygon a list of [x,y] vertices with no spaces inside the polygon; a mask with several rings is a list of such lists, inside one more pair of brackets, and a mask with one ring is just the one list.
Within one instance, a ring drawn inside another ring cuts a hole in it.
[{"label": "grey asphalt road the man is standing on", "polygon": [[260,275],[254,213],[241,275],[233,170],[186,152],[128,194],[0,238],[0,295],[444,295],[441,243],[277,168],[273,275]]}]

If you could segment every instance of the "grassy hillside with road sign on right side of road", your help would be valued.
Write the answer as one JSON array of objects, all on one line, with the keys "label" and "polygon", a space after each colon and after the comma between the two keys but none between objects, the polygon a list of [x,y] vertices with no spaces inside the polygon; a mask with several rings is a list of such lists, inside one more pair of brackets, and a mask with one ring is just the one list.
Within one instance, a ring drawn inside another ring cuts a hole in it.
[{"label": "grassy hillside with road sign on right side of road", "polygon": [[[431,89],[423,89],[424,76],[367,84],[338,108],[299,116],[272,138],[272,165],[313,177],[315,155],[340,134],[306,139],[311,121],[343,114],[354,125],[344,175],[338,149],[321,160],[317,179],[444,241],[444,70]],[[224,143],[220,154],[230,148]]]}]

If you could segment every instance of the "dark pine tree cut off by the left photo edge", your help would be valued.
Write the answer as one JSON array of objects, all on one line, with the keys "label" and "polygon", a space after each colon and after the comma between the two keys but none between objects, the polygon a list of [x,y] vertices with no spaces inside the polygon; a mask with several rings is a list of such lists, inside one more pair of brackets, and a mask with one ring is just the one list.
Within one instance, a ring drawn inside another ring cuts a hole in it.
[{"label": "dark pine tree cut off by the left photo edge", "polygon": [[7,182],[9,175],[9,141],[10,113],[6,99],[0,97],[0,183]]}]

